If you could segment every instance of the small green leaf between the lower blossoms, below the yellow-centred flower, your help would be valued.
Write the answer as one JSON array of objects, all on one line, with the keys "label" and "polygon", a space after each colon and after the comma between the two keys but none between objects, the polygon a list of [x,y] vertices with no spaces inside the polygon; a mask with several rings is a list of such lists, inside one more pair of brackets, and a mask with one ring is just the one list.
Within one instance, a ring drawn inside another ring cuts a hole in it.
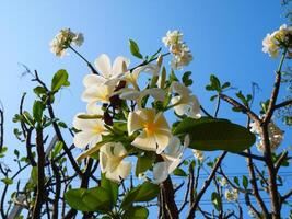
[{"label": "small green leaf between the lower blossoms, below the yellow-centred flower", "polygon": [[148,169],[152,166],[155,161],[155,153],[145,151],[144,153],[138,155],[137,164],[136,164],[136,176],[139,173],[145,172]]}]

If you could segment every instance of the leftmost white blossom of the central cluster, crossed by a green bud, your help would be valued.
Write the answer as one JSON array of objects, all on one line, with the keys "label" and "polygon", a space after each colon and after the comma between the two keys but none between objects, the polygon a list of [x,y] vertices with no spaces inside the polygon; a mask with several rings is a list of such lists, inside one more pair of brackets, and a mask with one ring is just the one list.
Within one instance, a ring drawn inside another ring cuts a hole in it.
[{"label": "leftmost white blossom of the central cluster, crossed by a green bud", "polygon": [[[103,115],[101,106],[91,104],[87,106],[87,115]],[[102,140],[102,135],[108,135],[104,122],[100,118],[83,119],[78,114],[73,120],[73,127],[80,130],[74,136],[74,146],[78,148],[93,147]]]}]

